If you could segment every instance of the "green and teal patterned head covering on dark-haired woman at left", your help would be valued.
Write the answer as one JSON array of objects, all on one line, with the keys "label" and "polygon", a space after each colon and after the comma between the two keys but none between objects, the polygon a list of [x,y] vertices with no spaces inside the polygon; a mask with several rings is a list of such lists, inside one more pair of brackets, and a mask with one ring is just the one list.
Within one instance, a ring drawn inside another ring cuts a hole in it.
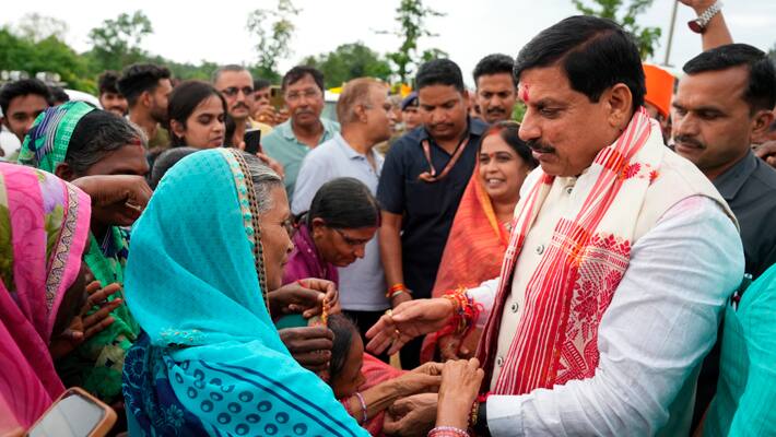
[{"label": "green and teal patterned head covering on dark-haired woman at left", "polygon": [[66,102],[40,113],[24,139],[19,163],[54,173],[68,154],[75,126],[93,110],[94,106],[83,102]]}]

